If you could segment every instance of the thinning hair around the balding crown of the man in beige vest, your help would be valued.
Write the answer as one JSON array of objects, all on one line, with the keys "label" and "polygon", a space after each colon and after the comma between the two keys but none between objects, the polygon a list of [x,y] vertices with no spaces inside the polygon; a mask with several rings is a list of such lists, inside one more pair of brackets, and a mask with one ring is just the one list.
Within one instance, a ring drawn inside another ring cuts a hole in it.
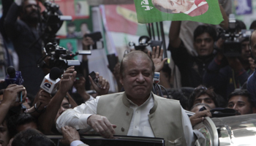
[{"label": "thinning hair around the balding crown of the man in beige vest", "polygon": [[140,56],[143,55],[144,57],[148,58],[148,61],[151,62],[152,77],[154,77],[154,69],[155,69],[154,62],[152,61],[151,57],[149,57],[146,53],[144,53],[141,50],[132,51],[124,56],[120,64],[120,72],[119,72],[120,77],[124,77],[124,69],[125,69],[124,61],[127,62],[132,57],[138,57],[138,54],[140,54]]}]

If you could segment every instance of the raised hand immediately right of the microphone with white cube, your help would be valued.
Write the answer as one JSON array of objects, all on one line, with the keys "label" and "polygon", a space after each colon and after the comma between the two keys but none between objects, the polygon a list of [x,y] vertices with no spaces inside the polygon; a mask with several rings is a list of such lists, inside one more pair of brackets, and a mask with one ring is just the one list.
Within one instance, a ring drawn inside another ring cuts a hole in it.
[{"label": "raised hand immediately right of the microphone with white cube", "polygon": [[77,72],[75,71],[75,66],[70,66],[62,75],[61,81],[59,82],[59,91],[63,95],[66,95],[67,91],[72,88],[72,85],[75,82],[76,74]]}]

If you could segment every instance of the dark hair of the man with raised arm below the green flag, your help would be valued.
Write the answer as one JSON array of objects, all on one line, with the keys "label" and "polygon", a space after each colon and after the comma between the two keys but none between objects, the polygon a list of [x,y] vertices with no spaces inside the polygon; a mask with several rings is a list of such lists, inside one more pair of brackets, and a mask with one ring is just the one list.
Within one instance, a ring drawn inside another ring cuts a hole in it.
[{"label": "dark hair of the man with raised arm below the green flag", "polygon": [[203,33],[208,33],[212,37],[212,39],[214,39],[214,41],[216,41],[217,31],[215,30],[215,28],[212,26],[204,26],[204,25],[197,26],[197,28],[195,28],[194,41],[198,36],[200,36]]}]

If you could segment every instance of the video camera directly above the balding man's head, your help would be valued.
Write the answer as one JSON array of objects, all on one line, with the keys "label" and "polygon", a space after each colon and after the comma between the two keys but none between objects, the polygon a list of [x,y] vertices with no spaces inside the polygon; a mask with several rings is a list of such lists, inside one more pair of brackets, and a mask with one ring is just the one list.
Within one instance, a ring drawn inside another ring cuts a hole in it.
[{"label": "video camera directly above the balding man's head", "polygon": [[153,47],[157,47],[159,46],[161,49],[162,46],[162,41],[156,41],[156,40],[151,40],[149,37],[147,36],[141,36],[139,38],[139,45],[135,45],[134,42],[129,42],[129,47],[134,46],[135,50],[145,50],[145,48],[150,45],[152,48]]}]

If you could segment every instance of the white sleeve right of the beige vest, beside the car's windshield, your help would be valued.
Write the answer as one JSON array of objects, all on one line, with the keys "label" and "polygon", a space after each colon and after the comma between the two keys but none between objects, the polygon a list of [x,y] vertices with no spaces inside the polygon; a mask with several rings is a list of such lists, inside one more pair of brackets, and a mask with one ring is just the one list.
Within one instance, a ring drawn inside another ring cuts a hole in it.
[{"label": "white sleeve right of the beige vest, beside the car's windshield", "polygon": [[185,112],[185,110],[181,107],[181,114],[182,114],[182,125],[183,125],[183,131],[184,136],[186,138],[187,145],[193,145],[192,142],[194,142],[194,132],[192,125],[189,120],[189,116]]}]

